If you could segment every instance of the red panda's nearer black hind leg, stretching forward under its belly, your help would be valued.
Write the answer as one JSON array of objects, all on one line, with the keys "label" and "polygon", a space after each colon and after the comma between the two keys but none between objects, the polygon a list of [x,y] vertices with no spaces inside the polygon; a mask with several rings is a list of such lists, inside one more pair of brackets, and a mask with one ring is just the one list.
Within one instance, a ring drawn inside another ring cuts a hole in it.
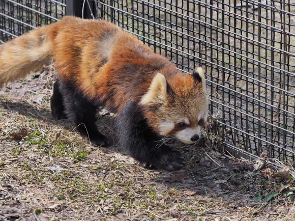
[{"label": "red panda's nearer black hind leg, stretching forward under its belly", "polygon": [[60,82],[59,89],[64,98],[65,112],[83,139],[93,145],[108,146],[109,140],[98,131],[95,123],[97,106],[88,102],[73,86]]}]

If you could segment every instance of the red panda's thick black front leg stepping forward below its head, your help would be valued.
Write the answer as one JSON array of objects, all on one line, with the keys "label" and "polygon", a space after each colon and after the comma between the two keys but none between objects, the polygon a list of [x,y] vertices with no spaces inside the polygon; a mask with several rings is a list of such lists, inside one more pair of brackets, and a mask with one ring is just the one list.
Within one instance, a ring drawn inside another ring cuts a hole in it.
[{"label": "red panda's thick black front leg stepping forward below its head", "polygon": [[128,104],[116,121],[122,148],[140,163],[166,171],[179,170],[185,164],[178,150],[166,146],[162,137],[145,123],[136,104]]}]

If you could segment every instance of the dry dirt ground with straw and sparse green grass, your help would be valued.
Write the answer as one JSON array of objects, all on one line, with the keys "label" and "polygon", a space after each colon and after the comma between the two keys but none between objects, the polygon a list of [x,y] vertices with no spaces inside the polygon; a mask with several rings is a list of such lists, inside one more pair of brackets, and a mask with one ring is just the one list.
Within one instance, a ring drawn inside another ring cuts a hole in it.
[{"label": "dry dirt ground with straw and sparse green grass", "polygon": [[[165,172],[141,167],[116,141],[100,112],[109,148],[88,145],[68,120],[50,115],[54,69],[0,90],[0,220],[293,220],[294,180],[271,168],[196,145],[168,141],[187,164]],[[20,131],[20,132],[19,132]],[[26,134],[27,131],[27,134]],[[14,132],[14,133],[13,133]]]}]

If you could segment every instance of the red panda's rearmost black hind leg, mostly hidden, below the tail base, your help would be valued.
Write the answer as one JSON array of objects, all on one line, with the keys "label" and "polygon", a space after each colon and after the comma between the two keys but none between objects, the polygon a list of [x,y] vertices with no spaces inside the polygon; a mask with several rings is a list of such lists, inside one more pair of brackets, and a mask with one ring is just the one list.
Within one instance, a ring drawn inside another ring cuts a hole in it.
[{"label": "red panda's rearmost black hind leg, mostly hidden, below the tail base", "polygon": [[63,96],[59,90],[58,79],[53,86],[53,95],[50,98],[51,115],[55,120],[66,119]]}]

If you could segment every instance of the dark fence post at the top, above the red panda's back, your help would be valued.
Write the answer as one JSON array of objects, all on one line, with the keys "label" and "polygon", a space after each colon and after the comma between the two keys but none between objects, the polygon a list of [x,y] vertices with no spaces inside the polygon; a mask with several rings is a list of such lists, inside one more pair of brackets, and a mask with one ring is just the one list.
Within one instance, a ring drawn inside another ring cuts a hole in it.
[{"label": "dark fence post at the top, above the red panda's back", "polygon": [[88,0],[88,2],[90,6],[88,5],[87,0],[67,0],[66,15],[82,17],[84,3],[84,18],[93,18],[91,12],[93,13],[94,17],[96,17],[95,2],[92,0]]}]

